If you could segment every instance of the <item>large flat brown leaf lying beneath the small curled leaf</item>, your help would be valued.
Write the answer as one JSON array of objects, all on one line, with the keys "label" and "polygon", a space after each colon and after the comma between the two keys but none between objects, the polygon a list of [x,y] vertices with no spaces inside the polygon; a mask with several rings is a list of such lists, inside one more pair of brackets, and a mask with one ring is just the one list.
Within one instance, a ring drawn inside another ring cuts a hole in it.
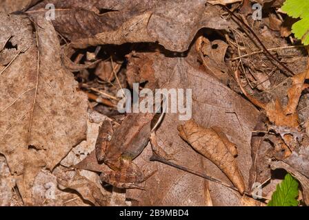
[{"label": "large flat brown leaf lying beneath the small curled leaf", "polygon": [[[195,69],[186,58],[170,58],[163,54],[147,53],[154,61],[152,68],[161,88],[192,89],[192,118],[207,127],[219,126],[231,142],[237,144],[236,158],[239,170],[247,185],[251,166],[250,138],[258,111],[249,102],[219,83],[205,72]],[[143,54],[139,54],[143,57]],[[139,62],[139,61],[135,61]],[[227,98],[228,97],[228,98]],[[166,153],[175,153],[173,158],[186,166],[228,184],[230,180],[210,160],[197,154],[178,135],[179,113],[168,113],[157,131],[157,140]],[[233,128],[233,129],[230,129]],[[141,206],[205,206],[209,203],[208,189],[214,206],[239,206],[239,192],[212,181],[191,175],[158,162],[148,162],[152,155],[150,146],[134,160],[146,173],[157,173],[146,180],[149,190],[127,190],[127,197]],[[158,184],[160,187],[158,187]],[[182,195],[179,197],[179,195]]]}]

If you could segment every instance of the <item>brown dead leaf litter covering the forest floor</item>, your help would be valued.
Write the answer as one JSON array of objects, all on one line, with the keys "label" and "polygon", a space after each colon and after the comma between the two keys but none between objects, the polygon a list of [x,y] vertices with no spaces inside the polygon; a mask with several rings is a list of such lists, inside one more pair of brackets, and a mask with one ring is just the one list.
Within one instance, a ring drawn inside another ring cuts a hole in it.
[{"label": "brown dead leaf litter covering the forest floor", "polygon": [[[0,1],[0,205],[265,206],[282,169],[308,205],[308,53],[283,1],[261,21],[250,4]],[[133,83],[192,89],[192,119],[166,113],[150,131],[157,115],[119,113]],[[98,157],[106,135],[145,190],[100,179],[117,171],[117,151]]]}]

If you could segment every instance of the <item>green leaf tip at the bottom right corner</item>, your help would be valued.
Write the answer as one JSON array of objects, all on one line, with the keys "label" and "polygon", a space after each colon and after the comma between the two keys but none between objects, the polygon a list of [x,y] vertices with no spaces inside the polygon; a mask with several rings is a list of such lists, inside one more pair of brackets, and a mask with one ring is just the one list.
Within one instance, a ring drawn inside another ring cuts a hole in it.
[{"label": "green leaf tip at the bottom right corner", "polygon": [[267,206],[298,206],[298,182],[290,173],[277,185]]}]

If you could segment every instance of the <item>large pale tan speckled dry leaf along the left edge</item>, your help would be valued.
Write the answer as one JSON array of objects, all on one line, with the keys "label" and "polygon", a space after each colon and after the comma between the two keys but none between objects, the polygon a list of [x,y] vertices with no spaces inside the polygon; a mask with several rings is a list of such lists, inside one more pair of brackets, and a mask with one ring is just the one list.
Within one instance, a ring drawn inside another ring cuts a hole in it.
[{"label": "large pale tan speckled dry leaf along the left edge", "polygon": [[87,97],[61,67],[60,45],[51,23],[36,19],[40,28],[32,30],[27,17],[0,17],[3,35],[12,36],[18,48],[25,46],[18,39],[30,39],[24,47],[28,50],[17,53],[0,75],[0,153],[11,173],[19,175],[23,201],[32,203],[30,188],[41,167],[54,168],[86,137]]}]

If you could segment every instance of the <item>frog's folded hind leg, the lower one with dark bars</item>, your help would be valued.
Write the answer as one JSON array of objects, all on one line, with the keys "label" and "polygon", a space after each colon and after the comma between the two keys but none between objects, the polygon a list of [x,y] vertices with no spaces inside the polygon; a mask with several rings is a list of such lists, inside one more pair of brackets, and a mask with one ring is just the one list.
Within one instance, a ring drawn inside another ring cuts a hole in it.
[{"label": "frog's folded hind leg, the lower one with dark bars", "polygon": [[119,163],[121,165],[119,166],[119,170],[101,173],[101,181],[105,181],[117,188],[144,189],[140,184],[148,179],[149,176],[145,177],[139,166],[134,164],[130,159],[120,158]]}]

